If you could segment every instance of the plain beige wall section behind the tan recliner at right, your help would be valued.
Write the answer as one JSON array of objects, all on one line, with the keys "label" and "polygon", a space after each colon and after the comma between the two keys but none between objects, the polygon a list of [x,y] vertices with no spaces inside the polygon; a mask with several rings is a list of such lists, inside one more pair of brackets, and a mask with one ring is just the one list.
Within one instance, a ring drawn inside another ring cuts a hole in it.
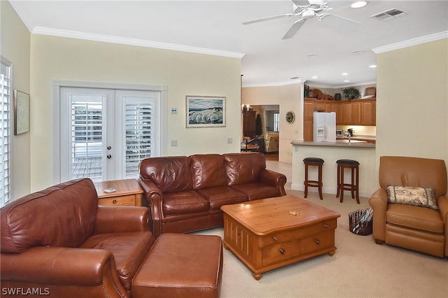
[{"label": "plain beige wall section behind the tan recliner at right", "polygon": [[377,65],[377,160],[405,155],[448,165],[448,39],[381,53]]}]

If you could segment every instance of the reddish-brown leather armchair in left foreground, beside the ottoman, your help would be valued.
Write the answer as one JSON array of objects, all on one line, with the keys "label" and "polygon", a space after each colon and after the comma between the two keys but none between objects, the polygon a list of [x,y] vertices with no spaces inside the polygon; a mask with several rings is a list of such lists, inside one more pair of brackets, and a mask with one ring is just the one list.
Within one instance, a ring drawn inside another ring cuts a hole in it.
[{"label": "reddish-brown leather armchair in left foreground, beside the ottoman", "polygon": [[97,204],[80,179],[1,208],[2,295],[130,297],[154,242],[148,208]]}]

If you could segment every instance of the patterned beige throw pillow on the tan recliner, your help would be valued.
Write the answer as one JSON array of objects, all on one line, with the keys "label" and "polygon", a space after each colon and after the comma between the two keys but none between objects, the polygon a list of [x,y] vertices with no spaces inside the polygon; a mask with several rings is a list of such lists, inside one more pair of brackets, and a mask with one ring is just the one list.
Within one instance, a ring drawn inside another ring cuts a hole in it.
[{"label": "patterned beige throw pillow on the tan recliner", "polygon": [[438,209],[431,187],[388,185],[386,190],[389,203]]}]

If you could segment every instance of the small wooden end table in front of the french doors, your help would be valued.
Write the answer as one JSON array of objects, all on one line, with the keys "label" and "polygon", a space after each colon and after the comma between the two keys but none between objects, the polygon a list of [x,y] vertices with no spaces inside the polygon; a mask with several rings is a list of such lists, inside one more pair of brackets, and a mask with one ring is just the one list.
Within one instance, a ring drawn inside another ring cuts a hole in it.
[{"label": "small wooden end table in front of the french doors", "polygon": [[[98,193],[98,205],[141,206],[141,189],[136,179],[110,180],[94,183]],[[115,188],[115,192],[104,192]]]}]

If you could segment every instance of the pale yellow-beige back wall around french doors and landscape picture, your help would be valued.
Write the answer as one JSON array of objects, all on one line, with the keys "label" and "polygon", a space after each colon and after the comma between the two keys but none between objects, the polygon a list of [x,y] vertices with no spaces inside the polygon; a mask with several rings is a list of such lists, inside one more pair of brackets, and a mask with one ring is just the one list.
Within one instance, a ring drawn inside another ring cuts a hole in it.
[{"label": "pale yellow-beige back wall around french doors and landscape picture", "polygon": [[[167,155],[239,152],[240,59],[31,36],[31,190],[53,183],[52,80],[166,85]],[[226,97],[227,126],[186,129],[186,95]],[[57,112],[57,111],[56,111]],[[228,143],[232,139],[232,143]],[[178,146],[171,147],[171,140]],[[42,173],[45,173],[43,175]]]}]

